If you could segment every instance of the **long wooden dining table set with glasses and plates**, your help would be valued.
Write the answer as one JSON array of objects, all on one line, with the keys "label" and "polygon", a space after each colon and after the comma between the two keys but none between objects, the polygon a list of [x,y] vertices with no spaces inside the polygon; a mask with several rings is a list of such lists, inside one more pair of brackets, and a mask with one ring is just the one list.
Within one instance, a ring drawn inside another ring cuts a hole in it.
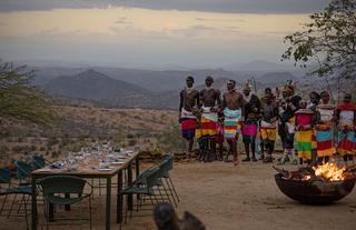
[{"label": "long wooden dining table set with glasses and plates", "polygon": [[[134,171],[135,163],[135,172]],[[123,170],[127,170],[127,184],[132,183],[132,174],[136,174],[136,178],[139,177],[139,152],[131,152],[125,158],[121,158],[120,161],[112,161],[107,163],[105,168],[100,168],[100,164],[97,163],[97,167],[81,167],[80,164],[76,168],[65,167],[59,168],[53,166],[47,166],[42,169],[38,169],[31,172],[31,229],[37,230],[38,227],[38,210],[37,210],[37,196],[38,196],[38,180],[49,176],[73,176],[86,179],[106,179],[106,224],[105,229],[110,229],[111,223],[111,188],[112,188],[112,178],[117,176],[117,202],[116,202],[116,219],[117,223],[122,222],[122,186],[123,186]],[[134,197],[128,196],[127,200],[128,209],[134,208]],[[52,212],[49,213],[51,218]]]}]

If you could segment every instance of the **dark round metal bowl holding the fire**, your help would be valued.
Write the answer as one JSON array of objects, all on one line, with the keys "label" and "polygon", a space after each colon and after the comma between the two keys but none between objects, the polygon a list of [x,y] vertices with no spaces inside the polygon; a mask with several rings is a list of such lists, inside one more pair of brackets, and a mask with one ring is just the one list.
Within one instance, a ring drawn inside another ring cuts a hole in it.
[{"label": "dark round metal bowl holding the fire", "polygon": [[340,200],[353,191],[355,179],[344,181],[299,181],[275,174],[279,190],[294,200],[306,204],[328,204]]}]

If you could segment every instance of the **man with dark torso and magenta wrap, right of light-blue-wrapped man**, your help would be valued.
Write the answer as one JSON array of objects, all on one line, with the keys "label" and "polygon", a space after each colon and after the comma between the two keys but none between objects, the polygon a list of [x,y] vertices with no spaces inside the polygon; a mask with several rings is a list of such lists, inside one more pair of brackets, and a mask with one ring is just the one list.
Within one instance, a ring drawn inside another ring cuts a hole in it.
[{"label": "man with dark torso and magenta wrap, right of light-blue-wrapped man", "polygon": [[[256,136],[257,124],[260,113],[260,102],[256,94],[250,93],[250,87],[248,83],[244,87],[244,126],[243,126],[243,142],[245,144],[246,158],[243,161],[257,161],[256,159]],[[249,150],[251,150],[251,157],[249,157]]]}]

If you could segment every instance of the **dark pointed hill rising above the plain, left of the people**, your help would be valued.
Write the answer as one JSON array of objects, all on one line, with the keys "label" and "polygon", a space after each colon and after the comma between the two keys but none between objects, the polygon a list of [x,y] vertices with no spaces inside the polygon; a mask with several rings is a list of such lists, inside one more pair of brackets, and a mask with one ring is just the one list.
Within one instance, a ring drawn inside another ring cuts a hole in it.
[{"label": "dark pointed hill rising above the plain, left of the people", "polygon": [[73,99],[92,100],[122,108],[156,108],[157,96],[149,90],[109,78],[95,70],[75,76],[60,76],[44,86],[46,92]]}]

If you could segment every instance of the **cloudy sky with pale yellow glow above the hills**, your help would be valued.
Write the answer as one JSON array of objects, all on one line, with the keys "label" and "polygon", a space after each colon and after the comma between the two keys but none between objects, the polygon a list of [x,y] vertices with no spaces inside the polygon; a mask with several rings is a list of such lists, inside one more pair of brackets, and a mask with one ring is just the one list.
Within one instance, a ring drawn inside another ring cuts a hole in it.
[{"label": "cloudy sky with pale yellow glow above the hills", "polygon": [[0,0],[0,58],[127,67],[278,62],[327,0]]}]

